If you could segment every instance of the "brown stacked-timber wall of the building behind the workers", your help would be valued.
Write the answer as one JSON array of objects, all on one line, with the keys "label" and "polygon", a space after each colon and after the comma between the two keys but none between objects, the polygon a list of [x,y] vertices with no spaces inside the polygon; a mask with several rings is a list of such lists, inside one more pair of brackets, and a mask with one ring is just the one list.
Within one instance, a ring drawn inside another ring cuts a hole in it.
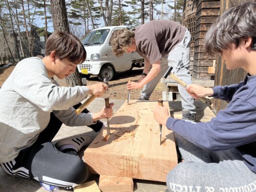
[{"label": "brown stacked-timber wall of the building behind the workers", "polygon": [[215,57],[204,52],[204,38],[211,24],[219,16],[220,0],[198,0],[196,4],[194,63],[192,76],[196,79],[211,79],[208,67]]}]

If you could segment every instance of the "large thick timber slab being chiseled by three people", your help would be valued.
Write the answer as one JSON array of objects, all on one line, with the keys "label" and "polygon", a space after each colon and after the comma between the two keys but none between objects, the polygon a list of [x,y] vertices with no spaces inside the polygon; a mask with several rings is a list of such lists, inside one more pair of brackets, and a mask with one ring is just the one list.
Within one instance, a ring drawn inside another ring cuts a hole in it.
[{"label": "large thick timber slab being chiseled by three people", "polygon": [[[174,135],[153,117],[157,101],[124,102],[110,119],[111,135],[101,130],[85,150],[85,163],[91,173],[165,182],[177,165]],[[169,108],[168,102],[164,106]]]}]

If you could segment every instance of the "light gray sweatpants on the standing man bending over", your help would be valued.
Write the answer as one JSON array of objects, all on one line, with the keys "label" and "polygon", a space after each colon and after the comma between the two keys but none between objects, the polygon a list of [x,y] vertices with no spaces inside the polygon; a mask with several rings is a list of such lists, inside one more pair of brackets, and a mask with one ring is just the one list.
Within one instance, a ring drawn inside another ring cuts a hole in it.
[{"label": "light gray sweatpants on the standing man bending over", "polygon": [[[192,84],[191,75],[189,74],[189,60],[190,60],[190,41],[191,35],[188,30],[185,32],[183,40],[171,50],[168,55],[160,59],[161,71],[154,79],[144,85],[141,90],[141,98],[149,99],[154,89],[156,88],[159,80],[167,71],[169,66],[172,66],[173,72],[186,84]],[[182,97],[183,111],[190,111],[195,113],[194,98],[192,98],[182,85],[178,85],[178,90]]]}]

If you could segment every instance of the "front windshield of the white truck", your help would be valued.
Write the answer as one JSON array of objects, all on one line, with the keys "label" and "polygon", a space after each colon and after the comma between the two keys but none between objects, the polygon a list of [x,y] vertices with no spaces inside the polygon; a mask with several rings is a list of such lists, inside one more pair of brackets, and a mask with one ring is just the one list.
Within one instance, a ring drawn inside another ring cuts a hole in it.
[{"label": "front windshield of the white truck", "polygon": [[93,46],[103,44],[106,40],[110,29],[100,29],[91,31],[84,39],[83,45],[84,46]]}]

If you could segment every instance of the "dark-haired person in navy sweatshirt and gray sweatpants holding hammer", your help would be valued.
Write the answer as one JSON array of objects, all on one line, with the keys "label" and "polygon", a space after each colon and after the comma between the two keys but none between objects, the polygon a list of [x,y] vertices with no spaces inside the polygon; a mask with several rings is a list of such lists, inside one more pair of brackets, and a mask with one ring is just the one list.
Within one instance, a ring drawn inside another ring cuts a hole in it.
[{"label": "dark-haired person in navy sweatshirt and gray sweatpants holding hammer", "polygon": [[169,117],[157,105],[154,118],[175,133],[184,159],[167,175],[166,192],[256,191],[256,2],[224,12],[207,32],[205,50],[220,54],[227,69],[247,73],[238,84],[205,88],[188,85],[198,98],[229,101],[208,122],[193,123]]}]

